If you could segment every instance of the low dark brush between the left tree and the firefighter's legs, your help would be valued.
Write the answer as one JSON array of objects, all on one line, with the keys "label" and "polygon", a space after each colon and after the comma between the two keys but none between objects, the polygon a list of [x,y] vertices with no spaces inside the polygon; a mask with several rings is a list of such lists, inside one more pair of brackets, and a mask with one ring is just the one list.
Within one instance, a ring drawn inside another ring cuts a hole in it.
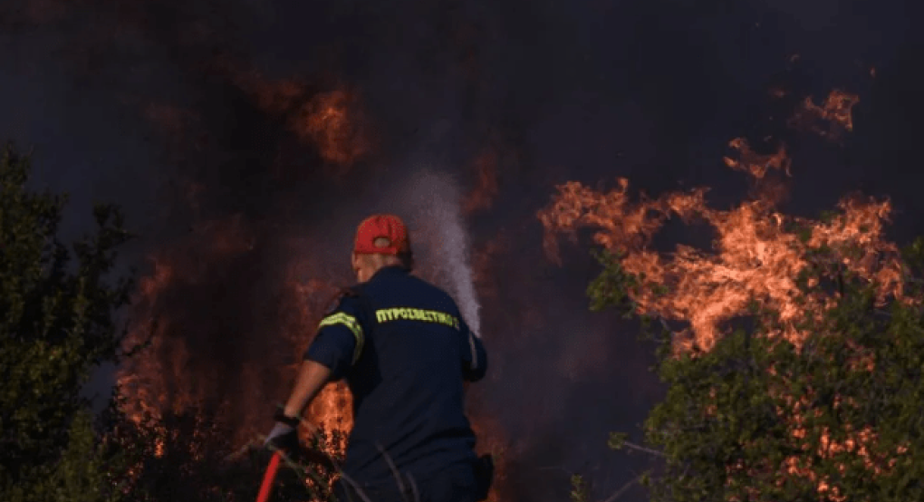
[{"label": "low dark brush between the left tree and the firefighter's legs", "polygon": [[[214,413],[167,411],[161,416],[121,414],[118,398],[110,410],[107,439],[127,452],[131,472],[124,479],[129,500],[138,502],[234,502],[257,496],[261,475],[273,454],[255,438],[234,450],[232,431]],[[340,438],[320,431],[312,451],[330,451]],[[273,488],[274,502],[330,499],[335,472],[315,457],[286,457]],[[340,461],[339,457],[334,460]]]}]

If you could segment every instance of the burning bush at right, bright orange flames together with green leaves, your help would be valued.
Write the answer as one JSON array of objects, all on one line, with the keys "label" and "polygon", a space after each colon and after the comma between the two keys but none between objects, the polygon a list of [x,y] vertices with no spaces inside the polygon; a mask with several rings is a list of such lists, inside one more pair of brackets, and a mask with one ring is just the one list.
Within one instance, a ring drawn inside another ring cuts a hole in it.
[{"label": "burning bush at right, bright orange flames together with green leaves", "polygon": [[[844,92],[832,92],[821,107],[807,100],[791,124],[802,128],[810,118],[810,130],[832,139],[836,130],[852,129],[856,102]],[[710,483],[717,484],[710,493],[732,502],[812,491],[822,501],[876,499],[863,495],[850,476],[899,475],[895,466],[915,441],[902,432],[907,417],[895,419],[898,427],[886,424],[861,402],[879,384],[881,365],[903,371],[896,368],[902,362],[882,357],[908,343],[886,338],[898,328],[876,320],[875,312],[914,315],[890,305],[918,309],[921,302],[918,288],[909,291],[902,254],[884,238],[891,204],[851,195],[821,219],[781,214],[778,191],[760,188],[770,169],[789,175],[784,146],[772,154],[754,153],[743,139],[730,146],[738,155],[725,164],[753,177],[759,189],[737,207],[709,207],[705,189],[634,201],[624,178],[608,192],[568,182],[538,214],[547,254],[560,261],[558,236],[577,239],[577,230],[591,228],[594,243],[614,257],[608,266],[615,267],[596,283],[609,289],[596,294],[625,288],[626,308],[660,318],[668,332],[672,350],[662,366],[668,398],[652,411],[646,432],[651,442],[671,449],[669,469],[676,471],[667,474],[674,479],[655,484],[655,499],[675,500],[675,490]],[[715,235],[711,252],[687,245],[670,254],[655,250],[652,238],[672,217],[708,224]],[[617,277],[632,278],[620,287]],[[866,312],[865,319],[850,309]],[[758,332],[733,331],[746,318],[756,318]],[[728,365],[735,373],[727,373]],[[739,379],[733,382],[730,374]],[[865,379],[869,386],[856,385]],[[890,382],[902,392],[910,385]],[[747,396],[750,402],[739,400]],[[678,406],[689,407],[681,412],[687,418],[672,414]],[[706,432],[712,423],[735,437]],[[621,447],[622,439],[615,444]],[[710,465],[723,471],[710,478]],[[857,493],[845,493],[845,485]]]}]

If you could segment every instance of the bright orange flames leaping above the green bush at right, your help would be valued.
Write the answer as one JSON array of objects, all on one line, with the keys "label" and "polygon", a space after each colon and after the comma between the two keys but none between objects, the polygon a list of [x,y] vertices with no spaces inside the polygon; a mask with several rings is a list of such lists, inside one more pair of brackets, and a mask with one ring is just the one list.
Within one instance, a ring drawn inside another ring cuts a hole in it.
[{"label": "bright orange flames leaping above the green bush at right", "polygon": [[[852,129],[850,109],[856,103],[857,97],[845,92],[832,92],[823,106],[807,99],[791,124],[835,138],[839,130]],[[829,127],[822,128],[819,122]],[[730,147],[738,155],[726,157],[725,164],[747,173],[758,183],[770,169],[789,174],[790,161],[783,146],[776,153],[758,154],[747,141],[736,139]],[[656,199],[640,197],[638,201],[630,199],[628,181],[622,178],[617,188],[608,192],[592,190],[578,182],[568,182],[557,189],[550,206],[538,214],[545,228],[544,245],[549,257],[560,262],[559,234],[576,239],[578,229],[592,228],[596,244],[620,253],[626,272],[643,275],[649,283],[647,288],[630,292],[638,312],[689,326],[675,338],[675,347],[680,351],[711,349],[722,336],[724,323],[745,315],[751,300],[779,312],[784,328],[770,336],[786,337],[799,346],[808,334],[796,329],[794,322],[805,312],[820,315],[838,298],[836,292],[806,297],[797,288],[796,277],[808,265],[809,251],[821,248],[833,250],[843,267],[878,284],[879,301],[906,300],[902,297],[903,270],[898,250],[883,237],[883,225],[891,210],[887,201],[845,197],[838,203],[837,214],[827,221],[815,221],[780,214],[775,210],[776,200],[765,191],[734,209],[721,211],[707,206],[705,189],[667,193]],[[674,216],[687,223],[708,224],[716,236],[713,252],[685,245],[678,245],[669,256],[652,250],[651,238]],[[804,230],[800,233],[796,228]],[[655,287],[662,287],[662,292],[656,292]],[[871,368],[874,361],[861,355],[852,363]],[[801,424],[812,412],[806,408],[806,399],[791,398],[790,409],[779,410],[792,422],[796,438],[806,435]],[[884,462],[869,455],[874,431],[867,428],[845,432],[847,438],[839,443],[831,439],[830,431],[822,432],[821,458],[852,452],[877,473],[894,465],[894,459]],[[816,483],[820,495],[835,502],[845,499],[811,468],[795,456],[784,465],[788,473]]]}]

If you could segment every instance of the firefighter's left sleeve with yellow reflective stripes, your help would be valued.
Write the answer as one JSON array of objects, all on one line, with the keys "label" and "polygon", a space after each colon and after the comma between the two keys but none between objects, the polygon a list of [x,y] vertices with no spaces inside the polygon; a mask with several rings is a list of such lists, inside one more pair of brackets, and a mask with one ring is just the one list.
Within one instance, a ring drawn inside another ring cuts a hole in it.
[{"label": "firefighter's left sleeve with yellow reflective stripes", "polygon": [[318,333],[304,359],[330,368],[331,379],[340,380],[362,353],[363,321],[359,300],[341,297],[318,324]]}]

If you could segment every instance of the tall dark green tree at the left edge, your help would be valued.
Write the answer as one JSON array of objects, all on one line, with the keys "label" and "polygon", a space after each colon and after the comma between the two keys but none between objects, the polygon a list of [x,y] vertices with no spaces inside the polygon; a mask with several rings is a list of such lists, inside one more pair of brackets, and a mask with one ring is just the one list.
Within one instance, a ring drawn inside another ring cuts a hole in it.
[{"label": "tall dark green tree at the left edge", "polygon": [[130,278],[110,279],[129,239],[110,205],[70,246],[58,237],[67,196],[27,187],[30,158],[0,158],[0,499],[117,500],[115,445],[101,440],[81,389],[121,341],[116,310]]}]

